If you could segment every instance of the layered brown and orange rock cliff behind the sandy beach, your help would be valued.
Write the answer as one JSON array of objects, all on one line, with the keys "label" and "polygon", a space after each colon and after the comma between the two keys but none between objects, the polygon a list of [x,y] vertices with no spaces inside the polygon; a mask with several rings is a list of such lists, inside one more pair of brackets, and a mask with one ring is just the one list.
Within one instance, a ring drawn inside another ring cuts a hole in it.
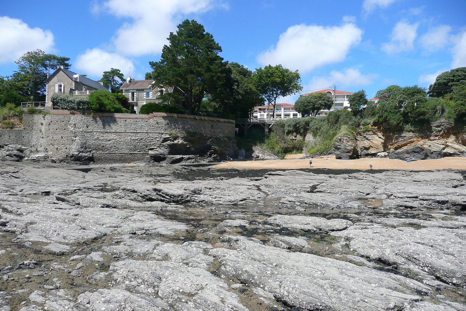
[{"label": "layered brown and orange rock cliff behind the sandy beach", "polygon": [[466,156],[465,128],[440,120],[422,131],[385,132],[377,127],[336,139],[327,154],[337,159],[365,157],[425,160]]}]

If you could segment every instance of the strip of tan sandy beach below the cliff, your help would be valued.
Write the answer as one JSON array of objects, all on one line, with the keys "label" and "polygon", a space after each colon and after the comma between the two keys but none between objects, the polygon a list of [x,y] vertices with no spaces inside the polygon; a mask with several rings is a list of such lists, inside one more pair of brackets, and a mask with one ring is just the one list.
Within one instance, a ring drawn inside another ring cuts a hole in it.
[{"label": "strip of tan sandy beach below the cliff", "polygon": [[[294,169],[294,168],[309,168],[309,159],[293,159],[301,157],[302,154],[293,154],[287,156],[288,159],[279,160],[259,160],[245,159],[227,161],[213,167],[217,168],[278,168],[278,169]],[[456,170],[466,170],[466,157],[447,157],[442,159],[418,160],[408,163],[402,160],[386,159],[386,158],[363,158],[354,160],[339,160],[335,156],[322,156],[312,159],[312,168],[329,168],[329,169],[359,169],[368,170],[369,165],[372,165],[374,170],[415,170],[428,171],[444,168],[452,168]]]}]

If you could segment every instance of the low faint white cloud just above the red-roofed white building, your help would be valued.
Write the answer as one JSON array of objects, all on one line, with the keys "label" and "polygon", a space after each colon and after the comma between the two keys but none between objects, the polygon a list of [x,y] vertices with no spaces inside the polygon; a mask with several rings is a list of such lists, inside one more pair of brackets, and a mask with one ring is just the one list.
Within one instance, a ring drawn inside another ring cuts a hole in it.
[{"label": "low faint white cloud just above the red-roofed white building", "polygon": [[376,74],[362,74],[359,69],[349,68],[341,71],[331,71],[329,76],[315,76],[304,90],[329,88],[336,84],[337,90],[349,90],[351,87],[372,84]]}]

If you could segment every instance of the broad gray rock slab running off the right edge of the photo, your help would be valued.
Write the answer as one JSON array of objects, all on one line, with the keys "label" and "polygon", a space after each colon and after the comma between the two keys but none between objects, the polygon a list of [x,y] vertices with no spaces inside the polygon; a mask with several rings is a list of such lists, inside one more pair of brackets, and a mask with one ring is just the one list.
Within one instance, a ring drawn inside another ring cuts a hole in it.
[{"label": "broad gray rock slab running off the right edge of the photo", "polygon": [[343,237],[361,256],[426,271],[445,283],[466,285],[465,229],[360,224],[331,235]]}]

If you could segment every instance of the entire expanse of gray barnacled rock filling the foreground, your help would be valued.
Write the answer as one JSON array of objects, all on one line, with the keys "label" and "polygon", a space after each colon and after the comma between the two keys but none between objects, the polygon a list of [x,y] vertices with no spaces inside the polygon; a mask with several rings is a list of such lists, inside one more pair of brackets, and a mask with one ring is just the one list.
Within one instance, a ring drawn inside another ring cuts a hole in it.
[{"label": "entire expanse of gray barnacled rock filling the foreground", "polygon": [[0,163],[0,311],[466,310],[466,172]]}]

